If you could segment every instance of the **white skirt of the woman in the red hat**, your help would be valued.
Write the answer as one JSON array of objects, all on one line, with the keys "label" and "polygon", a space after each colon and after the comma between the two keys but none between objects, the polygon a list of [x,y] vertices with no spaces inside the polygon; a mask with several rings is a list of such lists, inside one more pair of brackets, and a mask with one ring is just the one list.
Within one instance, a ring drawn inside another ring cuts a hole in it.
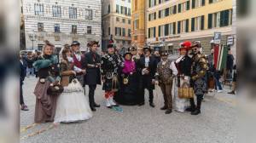
[{"label": "white skirt of the woman in the red hat", "polygon": [[185,110],[189,107],[189,99],[181,99],[178,97],[178,81],[180,85],[183,85],[183,79],[175,77],[172,84],[172,94],[173,94],[173,100],[174,100],[174,109],[177,112],[185,112]]}]

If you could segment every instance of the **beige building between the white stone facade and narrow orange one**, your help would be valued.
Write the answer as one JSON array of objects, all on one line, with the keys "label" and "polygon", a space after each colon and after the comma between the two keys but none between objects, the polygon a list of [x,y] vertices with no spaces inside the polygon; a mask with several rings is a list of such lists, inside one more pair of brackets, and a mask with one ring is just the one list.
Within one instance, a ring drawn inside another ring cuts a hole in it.
[{"label": "beige building between the white stone facade and narrow orange one", "polygon": [[131,0],[102,0],[102,49],[110,37],[118,49],[131,46]]}]

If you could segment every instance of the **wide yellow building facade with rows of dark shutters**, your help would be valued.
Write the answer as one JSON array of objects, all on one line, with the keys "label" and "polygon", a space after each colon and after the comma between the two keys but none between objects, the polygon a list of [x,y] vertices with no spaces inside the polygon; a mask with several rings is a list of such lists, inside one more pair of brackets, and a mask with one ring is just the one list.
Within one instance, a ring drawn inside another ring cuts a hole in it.
[{"label": "wide yellow building facade with rows of dark shutters", "polygon": [[233,0],[148,0],[147,43],[176,53],[183,41],[201,41],[210,53],[214,32],[221,43],[233,36]]}]

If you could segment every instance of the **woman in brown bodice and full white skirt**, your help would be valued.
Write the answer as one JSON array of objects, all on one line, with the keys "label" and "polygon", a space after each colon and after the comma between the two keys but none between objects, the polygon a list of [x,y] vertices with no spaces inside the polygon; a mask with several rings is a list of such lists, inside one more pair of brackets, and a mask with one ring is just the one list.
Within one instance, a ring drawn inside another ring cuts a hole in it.
[{"label": "woman in brown bodice and full white skirt", "polygon": [[92,117],[92,112],[84,96],[83,88],[75,78],[76,72],[73,71],[71,50],[64,49],[61,54],[61,85],[64,91],[57,100],[55,123],[87,120]]}]

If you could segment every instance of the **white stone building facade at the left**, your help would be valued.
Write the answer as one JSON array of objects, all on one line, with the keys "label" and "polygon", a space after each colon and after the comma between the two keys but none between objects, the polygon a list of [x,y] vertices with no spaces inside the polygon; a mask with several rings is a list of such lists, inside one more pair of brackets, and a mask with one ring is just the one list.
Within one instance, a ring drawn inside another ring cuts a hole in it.
[{"label": "white stone building facade at the left", "polygon": [[41,50],[45,40],[61,49],[77,40],[87,50],[89,41],[102,41],[101,9],[101,0],[23,0],[26,49]]}]

